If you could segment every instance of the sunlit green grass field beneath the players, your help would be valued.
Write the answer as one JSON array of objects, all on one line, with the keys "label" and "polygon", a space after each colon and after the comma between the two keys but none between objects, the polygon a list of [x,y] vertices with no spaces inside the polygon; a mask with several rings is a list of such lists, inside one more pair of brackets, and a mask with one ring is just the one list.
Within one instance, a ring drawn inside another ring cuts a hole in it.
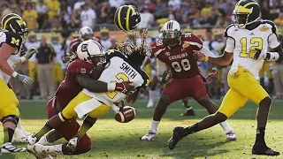
[{"label": "sunlit green grass field beneath the players", "polygon": [[[218,102],[219,103],[219,102]],[[282,103],[273,102],[269,121],[266,127],[266,141],[272,148],[283,153],[283,117]],[[25,129],[34,133],[46,122],[46,102],[20,102],[22,124]],[[195,117],[181,117],[185,110],[181,102],[173,103],[167,110],[159,125],[157,139],[154,141],[141,141],[140,137],[148,132],[153,109],[146,108],[146,101],[134,104],[138,116],[130,123],[121,124],[115,121],[114,114],[110,112],[100,118],[96,125],[89,130],[92,138],[92,149],[87,154],[75,156],[58,156],[57,158],[222,158],[222,159],[246,159],[246,158],[283,158],[251,155],[251,147],[254,144],[256,134],[256,105],[248,102],[228,120],[233,130],[238,135],[238,140],[226,142],[226,135],[222,128],[216,125],[200,133],[189,135],[180,141],[176,148],[170,151],[166,144],[172,135],[175,125],[191,125],[206,116],[208,113],[196,102],[192,102],[196,111]],[[3,140],[3,131],[0,130],[0,140]],[[60,140],[59,142],[63,142]],[[25,146],[25,145],[21,145]],[[12,155],[0,155],[2,159],[30,159],[33,155],[19,153]]]}]

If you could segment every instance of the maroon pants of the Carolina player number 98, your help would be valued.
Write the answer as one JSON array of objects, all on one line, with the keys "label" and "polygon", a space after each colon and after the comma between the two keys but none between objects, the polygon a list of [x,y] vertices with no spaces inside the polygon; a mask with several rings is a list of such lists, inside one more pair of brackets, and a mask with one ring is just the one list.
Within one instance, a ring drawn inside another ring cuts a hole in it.
[{"label": "maroon pants of the Carolina player number 98", "polygon": [[198,102],[203,97],[209,96],[201,75],[187,79],[171,79],[161,95],[169,96],[170,102],[179,101],[186,97],[193,97]]}]

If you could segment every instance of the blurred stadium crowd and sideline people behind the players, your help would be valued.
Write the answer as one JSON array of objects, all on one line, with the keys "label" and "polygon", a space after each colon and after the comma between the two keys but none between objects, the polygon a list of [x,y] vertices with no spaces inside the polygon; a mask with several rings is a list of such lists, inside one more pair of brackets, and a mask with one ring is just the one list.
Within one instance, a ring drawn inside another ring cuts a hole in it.
[{"label": "blurred stadium crowd and sideline people behind the players", "polygon": [[[114,49],[119,40],[113,19],[115,11],[123,4],[134,4],[141,12],[142,22],[138,29],[149,28],[158,34],[164,22],[175,19],[184,32],[199,35],[205,47],[221,55],[226,43],[223,30],[232,23],[236,3],[237,0],[1,0],[0,18],[7,13],[18,13],[31,31],[24,42],[25,50],[31,47],[42,52],[49,50],[48,54],[40,52],[27,64],[16,68],[34,80],[32,89],[27,90],[15,81],[11,83],[20,99],[33,99],[34,95],[49,99],[64,79],[67,66],[64,57],[75,36],[70,34],[78,32],[80,27],[92,27],[103,49]],[[283,0],[259,0],[258,3],[262,18],[275,22],[279,40],[283,42],[280,29],[283,27]],[[154,42],[157,34],[149,35],[148,42]],[[207,76],[214,66],[200,63],[199,67],[203,76]],[[150,64],[145,69],[150,74]],[[208,90],[210,97],[221,99],[228,90],[229,66],[218,67],[218,71],[218,82],[208,85]],[[270,95],[283,99],[283,64],[265,62],[258,79]],[[146,96],[146,91],[144,94]]]}]

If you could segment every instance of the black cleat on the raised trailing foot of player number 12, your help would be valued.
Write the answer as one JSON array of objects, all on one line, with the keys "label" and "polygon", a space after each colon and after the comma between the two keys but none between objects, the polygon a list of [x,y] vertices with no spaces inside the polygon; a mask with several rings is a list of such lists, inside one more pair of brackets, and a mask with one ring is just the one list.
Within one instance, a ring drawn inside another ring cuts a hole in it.
[{"label": "black cleat on the raised trailing foot of player number 12", "polygon": [[168,140],[168,148],[170,150],[174,149],[176,144],[179,142],[179,140],[181,140],[183,137],[185,137],[184,135],[184,127],[182,126],[175,126],[173,129],[173,135],[170,138],[170,140]]}]

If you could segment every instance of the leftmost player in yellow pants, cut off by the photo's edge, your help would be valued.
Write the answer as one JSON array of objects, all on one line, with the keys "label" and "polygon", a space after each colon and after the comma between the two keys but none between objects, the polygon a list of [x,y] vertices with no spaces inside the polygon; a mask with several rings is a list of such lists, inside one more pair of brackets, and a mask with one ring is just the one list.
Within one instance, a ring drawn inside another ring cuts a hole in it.
[{"label": "leftmost player in yellow pants, cut off by the photo's edge", "polygon": [[32,80],[26,75],[14,71],[14,67],[25,62],[37,53],[36,49],[29,49],[24,57],[19,57],[22,41],[27,38],[27,25],[15,13],[4,16],[1,22],[3,32],[0,32],[0,120],[4,128],[4,144],[2,153],[23,152],[26,148],[11,145],[14,130],[19,122],[19,101],[13,91],[7,86],[11,77],[31,87]]}]

